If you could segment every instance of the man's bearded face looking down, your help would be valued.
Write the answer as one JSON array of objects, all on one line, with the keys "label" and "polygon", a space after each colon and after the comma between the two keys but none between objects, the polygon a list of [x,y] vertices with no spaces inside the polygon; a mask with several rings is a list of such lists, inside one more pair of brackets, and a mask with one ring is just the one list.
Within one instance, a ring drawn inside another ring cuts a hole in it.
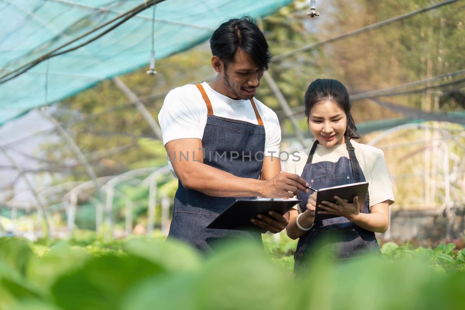
[{"label": "man's bearded face looking down", "polygon": [[234,61],[223,71],[223,83],[236,97],[234,99],[248,100],[255,95],[262,76],[263,70],[259,70],[250,55],[239,48]]}]

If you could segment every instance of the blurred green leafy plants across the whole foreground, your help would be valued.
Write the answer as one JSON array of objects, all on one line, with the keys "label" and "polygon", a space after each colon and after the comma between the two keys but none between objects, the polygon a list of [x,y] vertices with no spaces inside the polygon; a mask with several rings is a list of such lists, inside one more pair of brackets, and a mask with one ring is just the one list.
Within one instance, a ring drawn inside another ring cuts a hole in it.
[{"label": "blurred green leafy plants across the whole foreground", "polygon": [[0,309],[463,309],[465,250],[386,243],[384,258],[290,271],[289,244],[202,257],[163,238],[103,244],[0,239]]}]

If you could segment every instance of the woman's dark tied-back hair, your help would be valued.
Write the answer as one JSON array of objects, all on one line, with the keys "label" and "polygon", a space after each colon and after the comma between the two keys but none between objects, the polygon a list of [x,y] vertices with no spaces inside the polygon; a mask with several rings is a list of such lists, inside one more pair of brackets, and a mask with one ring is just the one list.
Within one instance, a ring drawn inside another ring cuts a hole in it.
[{"label": "woman's dark tied-back hair", "polygon": [[349,93],[341,82],[335,79],[316,79],[307,88],[304,96],[305,116],[310,119],[312,107],[320,101],[330,100],[335,102],[347,117],[347,129],[344,135],[352,139],[360,139],[357,127],[350,113],[351,103]]}]

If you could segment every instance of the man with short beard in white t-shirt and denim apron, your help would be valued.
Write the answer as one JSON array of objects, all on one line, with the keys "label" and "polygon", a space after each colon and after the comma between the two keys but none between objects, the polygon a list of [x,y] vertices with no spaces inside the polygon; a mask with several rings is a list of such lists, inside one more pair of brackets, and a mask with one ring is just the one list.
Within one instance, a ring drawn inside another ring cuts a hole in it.
[{"label": "man with short beard in white t-shirt and denim apron", "polygon": [[[231,19],[210,40],[210,83],[185,85],[166,95],[159,113],[163,143],[179,178],[168,237],[210,251],[215,240],[257,232],[206,229],[235,197],[293,197],[307,191],[298,175],[281,172],[281,130],[276,114],[254,100],[271,54],[252,18]],[[252,220],[273,233],[287,218],[277,214]]]}]

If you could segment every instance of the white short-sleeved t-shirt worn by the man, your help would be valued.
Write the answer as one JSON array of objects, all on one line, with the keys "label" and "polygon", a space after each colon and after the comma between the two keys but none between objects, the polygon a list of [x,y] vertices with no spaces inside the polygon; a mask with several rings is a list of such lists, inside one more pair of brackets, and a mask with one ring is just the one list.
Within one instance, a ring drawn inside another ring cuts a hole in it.
[{"label": "white short-sleeved t-shirt worn by the man", "polygon": [[[234,100],[214,91],[207,82],[202,83],[210,99],[213,115],[258,124],[250,100]],[[253,99],[265,127],[265,156],[279,156],[281,128],[276,113],[257,99]],[[188,84],[173,89],[166,95],[158,114],[163,145],[176,139],[202,139],[207,119],[207,108],[199,89]],[[170,170],[176,176],[173,166]]]}]

